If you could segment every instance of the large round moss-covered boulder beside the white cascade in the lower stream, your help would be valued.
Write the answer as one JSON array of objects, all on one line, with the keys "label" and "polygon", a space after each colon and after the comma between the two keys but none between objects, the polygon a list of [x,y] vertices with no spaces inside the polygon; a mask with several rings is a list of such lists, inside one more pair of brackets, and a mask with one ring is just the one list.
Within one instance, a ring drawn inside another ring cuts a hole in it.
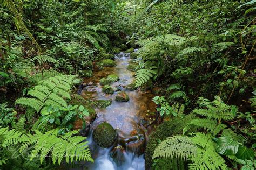
[{"label": "large round moss-covered boulder beside the white cascade in the lower stream", "polygon": [[109,123],[101,123],[93,131],[93,140],[103,148],[109,148],[117,141],[117,132]]}]

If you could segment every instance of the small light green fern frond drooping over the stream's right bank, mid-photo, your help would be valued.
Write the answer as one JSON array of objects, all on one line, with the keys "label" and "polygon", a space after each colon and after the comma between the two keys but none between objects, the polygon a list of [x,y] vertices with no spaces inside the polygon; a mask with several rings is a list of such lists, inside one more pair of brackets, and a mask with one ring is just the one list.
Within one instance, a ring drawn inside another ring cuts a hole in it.
[{"label": "small light green fern frond drooping over the stream's right bank, mid-photo", "polygon": [[135,75],[136,87],[139,87],[145,84],[148,80],[150,80],[153,77],[154,74],[156,74],[156,72],[151,69],[138,70]]}]

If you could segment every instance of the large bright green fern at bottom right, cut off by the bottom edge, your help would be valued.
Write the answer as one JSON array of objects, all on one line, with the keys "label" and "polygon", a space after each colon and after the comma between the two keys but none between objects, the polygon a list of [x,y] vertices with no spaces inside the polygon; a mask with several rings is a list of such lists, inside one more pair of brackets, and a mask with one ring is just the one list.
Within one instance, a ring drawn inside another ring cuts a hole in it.
[{"label": "large bright green fern at bottom right, cut off by the bottom edge", "polygon": [[[190,160],[190,169],[227,169],[225,160],[214,148],[209,140],[209,134],[195,133],[192,137],[174,136],[160,143],[153,154],[154,158],[171,158],[177,161]],[[175,158],[175,159],[174,159]]]}]

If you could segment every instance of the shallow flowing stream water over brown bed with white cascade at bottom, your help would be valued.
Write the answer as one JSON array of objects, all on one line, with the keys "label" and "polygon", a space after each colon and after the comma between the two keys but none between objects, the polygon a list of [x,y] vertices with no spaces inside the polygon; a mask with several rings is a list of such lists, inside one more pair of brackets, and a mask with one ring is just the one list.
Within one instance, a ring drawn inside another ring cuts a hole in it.
[{"label": "shallow flowing stream water over brown bed with white cascade at bottom", "polygon": [[[96,71],[94,76],[86,79],[85,82],[91,82],[82,91],[84,98],[90,100],[112,100],[112,104],[103,109],[96,109],[97,118],[91,124],[89,136],[90,150],[92,152],[93,164],[87,164],[89,169],[144,169],[144,151],[147,136],[151,129],[145,128],[141,122],[150,122],[149,112],[155,109],[151,101],[153,95],[149,91],[129,91],[125,89],[127,84],[134,81],[134,72],[127,70],[127,66],[132,62],[130,54],[116,54],[116,67],[106,67],[103,70]],[[115,101],[117,92],[113,95],[102,93],[102,86],[99,80],[107,77],[109,74],[117,74],[120,77],[118,82],[112,84],[125,91],[129,95],[129,102]],[[93,129],[102,122],[110,123],[118,133],[118,142],[111,148],[101,148],[92,139]]]}]

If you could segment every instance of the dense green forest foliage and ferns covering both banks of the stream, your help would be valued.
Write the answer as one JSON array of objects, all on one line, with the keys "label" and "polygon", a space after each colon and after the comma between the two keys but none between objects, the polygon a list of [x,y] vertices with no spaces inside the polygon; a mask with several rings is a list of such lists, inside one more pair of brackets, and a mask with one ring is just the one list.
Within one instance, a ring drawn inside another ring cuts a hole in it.
[{"label": "dense green forest foliage and ferns covering both banks of the stream", "polygon": [[160,127],[146,168],[255,169],[255,4],[0,0],[0,169],[93,162],[73,90],[136,47],[134,87],[156,94]]}]

